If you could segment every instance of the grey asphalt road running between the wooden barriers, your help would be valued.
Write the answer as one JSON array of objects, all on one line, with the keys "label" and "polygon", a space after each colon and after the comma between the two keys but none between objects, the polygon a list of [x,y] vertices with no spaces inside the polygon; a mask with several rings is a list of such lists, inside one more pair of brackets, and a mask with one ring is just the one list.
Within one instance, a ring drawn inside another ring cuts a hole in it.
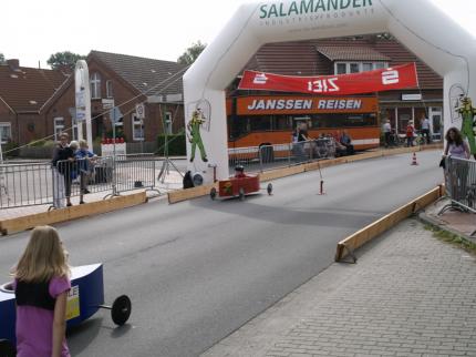
[{"label": "grey asphalt road running between the wooden barriers", "polygon": [[[275,195],[153,202],[59,225],[73,265],[104,262],[106,299],[69,334],[73,356],[197,356],[329,266],[338,241],[442,182],[439,152],[368,160],[273,182]],[[28,233],[0,239],[0,278]]]}]

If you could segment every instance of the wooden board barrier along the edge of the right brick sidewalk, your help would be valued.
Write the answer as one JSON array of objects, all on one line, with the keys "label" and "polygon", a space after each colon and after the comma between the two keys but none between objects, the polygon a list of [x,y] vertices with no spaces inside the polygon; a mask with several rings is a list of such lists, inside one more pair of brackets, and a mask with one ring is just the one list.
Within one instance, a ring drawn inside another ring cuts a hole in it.
[{"label": "wooden board barrier along the edge of the right brick sidewalk", "polygon": [[381,235],[383,232],[390,230],[403,220],[410,217],[415,212],[435,202],[436,200],[442,197],[443,194],[444,186],[439,185],[436,188],[430,191],[428,193],[420,196],[416,200],[413,200],[404,206],[393,211],[386,216],[380,218],[379,221],[375,221],[374,223],[368,225],[359,232],[355,232],[345,239],[339,242],[335,252],[335,262],[342,261],[349,254],[353,255],[353,251],[372,241],[373,238]]}]

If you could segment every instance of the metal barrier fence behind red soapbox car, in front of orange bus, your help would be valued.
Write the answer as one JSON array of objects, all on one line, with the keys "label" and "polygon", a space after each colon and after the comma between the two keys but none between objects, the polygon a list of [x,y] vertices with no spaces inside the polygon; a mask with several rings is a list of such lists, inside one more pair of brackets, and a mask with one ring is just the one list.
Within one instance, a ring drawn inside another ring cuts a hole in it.
[{"label": "metal barrier fence behind red soapbox car, in front of orange bus", "polygon": [[231,170],[237,165],[242,165],[249,172],[263,172],[315,160],[331,159],[338,154],[334,140],[325,137],[289,144],[229,149],[228,163]]}]

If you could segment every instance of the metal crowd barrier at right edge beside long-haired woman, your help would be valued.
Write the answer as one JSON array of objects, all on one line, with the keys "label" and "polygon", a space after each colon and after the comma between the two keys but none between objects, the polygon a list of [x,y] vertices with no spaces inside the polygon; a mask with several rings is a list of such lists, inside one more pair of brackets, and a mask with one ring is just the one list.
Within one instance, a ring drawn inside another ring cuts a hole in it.
[{"label": "metal crowd barrier at right edge beside long-haired woman", "polygon": [[476,213],[476,161],[447,156],[445,160],[445,186],[451,204],[447,210]]}]

